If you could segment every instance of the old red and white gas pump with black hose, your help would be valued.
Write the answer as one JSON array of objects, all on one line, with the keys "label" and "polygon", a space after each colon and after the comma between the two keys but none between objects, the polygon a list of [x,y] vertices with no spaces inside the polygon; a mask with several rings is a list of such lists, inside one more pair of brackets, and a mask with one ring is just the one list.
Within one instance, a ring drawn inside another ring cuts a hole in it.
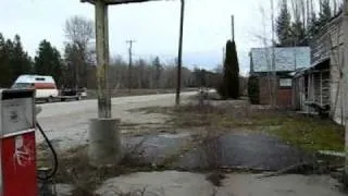
[{"label": "old red and white gas pump with black hose", "polygon": [[[36,127],[51,148],[55,168],[39,176],[36,168]],[[57,155],[36,121],[34,90],[0,90],[0,196],[37,196],[37,179],[57,171]]]}]

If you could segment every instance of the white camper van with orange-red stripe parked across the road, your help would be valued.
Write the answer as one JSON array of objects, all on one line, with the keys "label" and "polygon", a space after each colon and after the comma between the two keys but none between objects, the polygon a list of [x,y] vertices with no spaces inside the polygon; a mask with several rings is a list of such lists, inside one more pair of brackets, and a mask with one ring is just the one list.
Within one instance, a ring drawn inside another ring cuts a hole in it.
[{"label": "white camper van with orange-red stripe parked across the road", "polygon": [[35,98],[47,101],[52,101],[59,96],[59,90],[53,77],[46,75],[20,75],[12,88],[35,89]]}]

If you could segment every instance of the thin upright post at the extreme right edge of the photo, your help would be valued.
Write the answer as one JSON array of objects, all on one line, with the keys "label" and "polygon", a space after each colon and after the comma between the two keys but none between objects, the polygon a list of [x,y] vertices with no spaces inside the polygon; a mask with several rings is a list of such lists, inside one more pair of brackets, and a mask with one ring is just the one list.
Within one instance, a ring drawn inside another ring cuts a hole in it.
[{"label": "thin upright post at the extreme right edge of the photo", "polygon": [[344,64],[343,64],[343,79],[344,79],[344,118],[345,118],[345,173],[344,184],[348,187],[348,0],[344,1],[343,12],[343,29],[344,29]]}]

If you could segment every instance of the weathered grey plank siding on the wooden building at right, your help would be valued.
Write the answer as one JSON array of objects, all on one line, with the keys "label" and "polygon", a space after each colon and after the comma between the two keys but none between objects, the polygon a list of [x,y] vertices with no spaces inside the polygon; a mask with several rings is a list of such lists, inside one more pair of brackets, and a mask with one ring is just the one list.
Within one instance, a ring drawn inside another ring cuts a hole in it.
[{"label": "weathered grey plank siding on the wooden building at right", "polygon": [[[331,117],[338,123],[343,120],[343,17],[337,16],[331,21],[311,42],[311,62],[316,65],[330,59],[330,81],[327,81],[327,73],[324,73],[324,81],[322,81],[324,96],[323,103],[330,102]],[[316,78],[316,76],[315,76]],[[318,82],[315,79],[315,82]],[[327,83],[330,89],[327,89]],[[315,88],[318,86],[315,85]],[[330,91],[330,94],[327,94]],[[315,101],[319,101],[315,99]]]}]

